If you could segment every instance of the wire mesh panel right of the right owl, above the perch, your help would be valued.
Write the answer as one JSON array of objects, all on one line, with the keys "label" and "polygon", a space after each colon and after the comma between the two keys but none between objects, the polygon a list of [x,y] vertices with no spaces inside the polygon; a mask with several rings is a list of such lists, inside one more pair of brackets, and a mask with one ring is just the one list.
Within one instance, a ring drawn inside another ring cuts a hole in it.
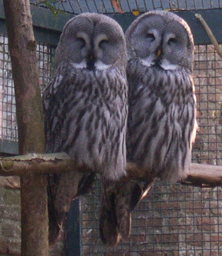
[{"label": "wire mesh panel right of the right owl, above the perch", "polygon": [[196,46],[193,76],[200,128],[193,161],[221,165],[222,59],[212,45]]}]

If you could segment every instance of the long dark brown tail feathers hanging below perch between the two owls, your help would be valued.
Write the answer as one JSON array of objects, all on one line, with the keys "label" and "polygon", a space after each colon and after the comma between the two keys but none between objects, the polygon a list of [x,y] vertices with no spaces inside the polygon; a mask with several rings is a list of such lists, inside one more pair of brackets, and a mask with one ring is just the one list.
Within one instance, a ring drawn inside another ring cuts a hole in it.
[{"label": "long dark brown tail feathers hanging below perch between the two owls", "polygon": [[[149,187],[150,184],[149,184]],[[133,181],[104,182],[99,232],[104,244],[127,242],[131,231],[131,212],[147,194],[148,185]]]}]

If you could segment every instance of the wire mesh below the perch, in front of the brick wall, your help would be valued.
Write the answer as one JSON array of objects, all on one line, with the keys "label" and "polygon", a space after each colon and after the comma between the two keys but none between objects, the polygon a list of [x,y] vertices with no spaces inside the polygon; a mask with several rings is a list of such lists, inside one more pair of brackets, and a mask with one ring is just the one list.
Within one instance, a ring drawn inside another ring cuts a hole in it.
[{"label": "wire mesh below the perch, in front of the brick wall", "polygon": [[81,255],[221,255],[221,193],[156,183],[132,213],[129,243],[112,249],[100,242],[96,190],[81,200]]}]

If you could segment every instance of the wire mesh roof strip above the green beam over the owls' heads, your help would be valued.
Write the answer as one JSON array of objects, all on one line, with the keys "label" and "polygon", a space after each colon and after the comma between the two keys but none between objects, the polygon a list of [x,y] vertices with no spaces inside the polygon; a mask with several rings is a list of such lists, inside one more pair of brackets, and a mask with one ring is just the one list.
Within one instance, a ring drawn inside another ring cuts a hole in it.
[{"label": "wire mesh roof strip above the green beam over the owls' heads", "polygon": [[[55,0],[51,2],[52,7],[73,14],[83,12],[98,12],[108,14],[117,12],[113,7],[111,0]],[[47,5],[44,4],[44,1],[40,0],[31,0],[30,3],[47,7]],[[155,9],[166,9],[171,11],[197,11],[222,7],[222,0],[119,0],[118,3],[124,13],[131,13],[135,10],[139,12],[147,12]]]}]

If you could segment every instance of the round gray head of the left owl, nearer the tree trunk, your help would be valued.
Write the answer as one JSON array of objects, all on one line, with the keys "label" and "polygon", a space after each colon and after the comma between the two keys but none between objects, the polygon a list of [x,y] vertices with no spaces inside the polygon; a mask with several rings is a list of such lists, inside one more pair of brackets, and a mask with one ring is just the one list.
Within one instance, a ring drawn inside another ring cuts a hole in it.
[{"label": "round gray head of the left owl, nearer the tree trunk", "polygon": [[70,63],[89,70],[126,66],[122,28],[103,14],[83,13],[70,19],[56,49],[56,64]]}]

